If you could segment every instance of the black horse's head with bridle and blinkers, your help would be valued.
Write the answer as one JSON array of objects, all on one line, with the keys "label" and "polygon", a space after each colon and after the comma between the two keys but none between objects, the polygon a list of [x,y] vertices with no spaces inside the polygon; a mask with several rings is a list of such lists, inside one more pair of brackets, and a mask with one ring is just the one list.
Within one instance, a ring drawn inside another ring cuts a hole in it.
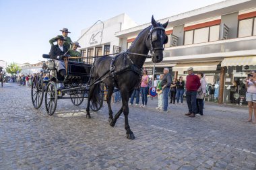
[{"label": "black horse's head with bridle and blinkers", "polygon": [[165,28],[168,25],[168,21],[165,24],[160,24],[159,22],[156,22],[154,16],[152,16],[151,23],[152,26],[146,40],[146,46],[150,49],[152,61],[161,62],[163,59],[163,46],[168,42],[168,36],[165,34]]}]

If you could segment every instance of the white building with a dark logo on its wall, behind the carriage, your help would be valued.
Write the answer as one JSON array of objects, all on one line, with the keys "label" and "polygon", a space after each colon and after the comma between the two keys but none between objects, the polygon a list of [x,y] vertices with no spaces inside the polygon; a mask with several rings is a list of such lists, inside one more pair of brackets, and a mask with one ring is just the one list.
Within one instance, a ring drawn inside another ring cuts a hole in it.
[{"label": "white building with a dark logo on its wall, behind the carriage", "polygon": [[[126,30],[137,26],[131,18],[125,13],[110,18],[104,22],[99,22],[92,28],[82,30],[81,54],[85,62],[92,64],[94,56],[115,54],[121,52],[120,38],[115,36],[115,32]],[[84,35],[84,36],[83,36]]]}]

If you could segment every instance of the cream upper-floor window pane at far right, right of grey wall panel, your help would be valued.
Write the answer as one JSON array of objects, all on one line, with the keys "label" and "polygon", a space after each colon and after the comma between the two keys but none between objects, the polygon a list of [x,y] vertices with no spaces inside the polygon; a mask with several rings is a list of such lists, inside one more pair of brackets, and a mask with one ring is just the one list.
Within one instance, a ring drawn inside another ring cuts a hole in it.
[{"label": "cream upper-floor window pane at far right, right of grey wall panel", "polygon": [[238,38],[252,36],[253,33],[253,18],[243,19],[239,21]]}]

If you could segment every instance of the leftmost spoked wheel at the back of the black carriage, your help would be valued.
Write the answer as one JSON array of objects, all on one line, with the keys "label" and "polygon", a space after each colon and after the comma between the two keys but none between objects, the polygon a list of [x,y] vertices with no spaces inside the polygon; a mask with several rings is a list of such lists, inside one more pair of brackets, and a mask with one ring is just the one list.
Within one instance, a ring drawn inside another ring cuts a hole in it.
[{"label": "leftmost spoked wheel at the back of the black carriage", "polygon": [[44,88],[42,77],[40,77],[39,75],[36,75],[32,81],[31,97],[34,108],[40,108],[40,106],[42,105],[42,99],[44,97]]}]

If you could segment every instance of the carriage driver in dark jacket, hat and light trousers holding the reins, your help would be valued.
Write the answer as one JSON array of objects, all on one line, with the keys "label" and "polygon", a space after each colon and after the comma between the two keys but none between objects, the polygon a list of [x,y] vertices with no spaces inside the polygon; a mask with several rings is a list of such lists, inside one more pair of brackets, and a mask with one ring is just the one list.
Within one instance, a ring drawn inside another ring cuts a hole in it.
[{"label": "carriage driver in dark jacket, hat and light trousers holding the reins", "polygon": [[51,47],[49,55],[51,58],[55,59],[55,67],[61,76],[61,81],[63,81],[66,76],[65,62],[63,58],[70,55],[68,49],[63,46],[65,41],[63,36],[57,36],[55,41],[57,41],[57,45]]}]

